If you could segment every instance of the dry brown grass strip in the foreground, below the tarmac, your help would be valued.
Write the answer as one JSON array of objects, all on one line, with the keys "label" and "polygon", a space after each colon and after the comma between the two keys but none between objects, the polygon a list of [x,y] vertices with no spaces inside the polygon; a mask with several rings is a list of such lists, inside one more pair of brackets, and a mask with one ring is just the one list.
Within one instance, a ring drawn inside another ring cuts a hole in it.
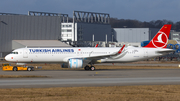
[{"label": "dry brown grass strip in the foreground, below the tarmac", "polygon": [[180,85],[0,89],[2,101],[179,101]]}]

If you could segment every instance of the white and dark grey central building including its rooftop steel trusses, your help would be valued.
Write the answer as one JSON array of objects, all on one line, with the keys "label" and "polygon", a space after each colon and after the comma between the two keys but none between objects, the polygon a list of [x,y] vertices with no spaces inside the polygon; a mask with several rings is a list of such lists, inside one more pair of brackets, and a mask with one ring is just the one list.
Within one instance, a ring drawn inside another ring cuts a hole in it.
[{"label": "white and dark grey central building including its rooftop steel trusses", "polygon": [[61,25],[62,41],[111,41],[109,14],[74,11],[73,15],[73,22]]}]

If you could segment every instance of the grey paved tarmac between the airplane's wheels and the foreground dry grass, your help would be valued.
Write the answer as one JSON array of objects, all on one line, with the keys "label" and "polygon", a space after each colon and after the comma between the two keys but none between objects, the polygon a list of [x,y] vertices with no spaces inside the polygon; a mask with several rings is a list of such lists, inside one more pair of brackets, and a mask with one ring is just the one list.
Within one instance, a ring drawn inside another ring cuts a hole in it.
[{"label": "grey paved tarmac between the airplane's wheels and the foreground dry grass", "polygon": [[47,78],[1,78],[0,88],[49,88],[127,85],[179,85],[180,69],[37,70],[2,71],[1,75],[35,75]]}]

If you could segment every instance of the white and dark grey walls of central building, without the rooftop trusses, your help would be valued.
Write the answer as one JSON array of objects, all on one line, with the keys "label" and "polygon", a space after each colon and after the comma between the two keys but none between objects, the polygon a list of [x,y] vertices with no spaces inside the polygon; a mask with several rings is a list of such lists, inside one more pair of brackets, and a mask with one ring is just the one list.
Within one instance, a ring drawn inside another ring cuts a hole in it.
[{"label": "white and dark grey walls of central building, without the rooftop trusses", "polygon": [[106,41],[106,35],[107,41],[111,41],[109,24],[62,23],[61,29],[62,41]]}]

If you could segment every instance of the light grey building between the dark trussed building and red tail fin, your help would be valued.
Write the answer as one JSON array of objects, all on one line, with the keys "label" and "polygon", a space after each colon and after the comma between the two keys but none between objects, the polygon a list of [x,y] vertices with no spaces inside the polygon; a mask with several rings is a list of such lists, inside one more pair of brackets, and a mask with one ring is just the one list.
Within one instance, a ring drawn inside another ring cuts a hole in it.
[{"label": "light grey building between the dark trussed building and red tail fin", "polygon": [[159,31],[156,28],[114,28],[114,37],[118,42],[141,43],[151,40]]}]

